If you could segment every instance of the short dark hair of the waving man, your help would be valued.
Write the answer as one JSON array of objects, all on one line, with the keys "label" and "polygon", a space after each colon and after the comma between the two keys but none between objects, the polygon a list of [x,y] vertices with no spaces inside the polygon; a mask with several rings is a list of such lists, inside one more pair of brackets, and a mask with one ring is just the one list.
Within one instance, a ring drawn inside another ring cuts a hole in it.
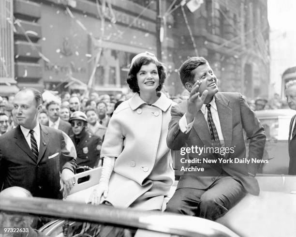
[{"label": "short dark hair of the waving man", "polygon": [[194,82],[194,73],[192,71],[200,65],[206,64],[208,61],[203,57],[191,57],[182,63],[179,68],[179,74],[183,86],[186,82]]}]

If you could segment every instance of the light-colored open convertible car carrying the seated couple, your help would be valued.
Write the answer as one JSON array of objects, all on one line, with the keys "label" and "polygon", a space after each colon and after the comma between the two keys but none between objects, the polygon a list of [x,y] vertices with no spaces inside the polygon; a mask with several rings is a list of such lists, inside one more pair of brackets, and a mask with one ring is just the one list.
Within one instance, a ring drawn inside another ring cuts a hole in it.
[{"label": "light-colored open convertible car carrying the seated couple", "polygon": [[[256,114],[267,134],[263,159],[268,159],[268,163],[256,176],[260,195],[247,194],[216,222],[160,211],[143,212],[86,204],[98,184],[101,167],[76,174],[78,184],[66,201],[1,199],[0,211],[51,218],[53,221],[39,229],[40,233],[51,237],[295,237],[296,176],[287,175],[289,156],[286,140],[294,112],[266,110],[256,111]],[[178,179],[180,173],[176,175]],[[177,185],[178,180],[172,186],[171,194]]]}]

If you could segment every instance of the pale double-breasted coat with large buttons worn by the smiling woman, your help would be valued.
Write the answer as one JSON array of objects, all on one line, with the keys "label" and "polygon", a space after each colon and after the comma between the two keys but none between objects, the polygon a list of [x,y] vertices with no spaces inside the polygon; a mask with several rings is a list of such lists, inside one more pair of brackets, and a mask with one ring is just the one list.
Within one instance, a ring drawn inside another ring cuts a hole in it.
[{"label": "pale double-breasted coat with large buttons worn by the smiling woman", "polygon": [[115,110],[101,150],[101,157],[117,157],[106,199],[113,206],[161,208],[174,180],[166,145],[174,104],[161,93],[149,106],[136,93]]}]

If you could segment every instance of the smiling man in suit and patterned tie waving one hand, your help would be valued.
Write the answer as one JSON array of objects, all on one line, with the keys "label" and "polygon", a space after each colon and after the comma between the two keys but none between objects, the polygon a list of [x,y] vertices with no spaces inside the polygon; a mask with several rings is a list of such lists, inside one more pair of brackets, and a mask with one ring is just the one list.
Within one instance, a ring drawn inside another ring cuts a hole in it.
[{"label": "smiling man in suit and patterned tie waving one hand", "polygon": [[[246,193],[259,194],[254,178],[259,164],[245,161],[243,129],[250,139],[247,158],[253,161],[262,159],[266,135],[241,94],[218,92],[217,78],[206,59],[186,60],[179,74],[190,96],[172,107],[167,145],[173,150],[187,148],[193,163],[180,177],[166,211],[216,220]],[[235,163],[235,158],[244,163]]]}]

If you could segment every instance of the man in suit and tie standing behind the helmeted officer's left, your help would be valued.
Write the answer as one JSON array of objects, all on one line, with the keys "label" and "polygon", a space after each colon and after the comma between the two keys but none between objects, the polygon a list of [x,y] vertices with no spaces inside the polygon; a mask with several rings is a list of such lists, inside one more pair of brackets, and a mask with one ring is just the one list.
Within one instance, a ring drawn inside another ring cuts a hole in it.
[{"label": "man in suit and tie standing behind the helmeted officer's left", "polygon": [[46,104],[46,110],[48,113],[48,122],[45,125],[50,128],[59,129],[70,136],[72,134],[71,124],[59,118],[59,104],[51,101]]}]

